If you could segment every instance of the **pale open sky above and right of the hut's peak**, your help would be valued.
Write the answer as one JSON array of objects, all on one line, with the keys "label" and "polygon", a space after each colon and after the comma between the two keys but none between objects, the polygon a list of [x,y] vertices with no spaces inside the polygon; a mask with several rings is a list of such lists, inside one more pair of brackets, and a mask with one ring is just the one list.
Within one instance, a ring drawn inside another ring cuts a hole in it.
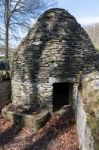
[{"label": "pale open sky above and right of the hut's peak", "polygon": [[[68,10],[81,25],[88,25],[99,22],[99,0],[56,0],[54,7],[64,8]],[[53,7],[53,6],[52,6]],[[0,18],[2,22],[2,18]],[[34,23],[31,20],[31,26]],[[23,38],[27,33],[19,30],[19,35]],[[16,41],[12,42],[17,45]]]}]

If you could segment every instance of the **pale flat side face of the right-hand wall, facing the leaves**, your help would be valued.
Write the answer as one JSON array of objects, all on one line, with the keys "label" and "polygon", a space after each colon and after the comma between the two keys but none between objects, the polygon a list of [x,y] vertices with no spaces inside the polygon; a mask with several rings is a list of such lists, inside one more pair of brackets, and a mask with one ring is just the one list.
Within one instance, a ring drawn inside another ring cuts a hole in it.
[{"label": "pale flat side face of the right-hand wall, facing the leaves", "polygon": [[87,114],[84,110],[83,105],[84,103],[81,98],[81,95],[78,93],[76,103],[76,122],[79,145],[81,150],[94,150],[94,141],[91,134],[91,130],[87,124]]}]

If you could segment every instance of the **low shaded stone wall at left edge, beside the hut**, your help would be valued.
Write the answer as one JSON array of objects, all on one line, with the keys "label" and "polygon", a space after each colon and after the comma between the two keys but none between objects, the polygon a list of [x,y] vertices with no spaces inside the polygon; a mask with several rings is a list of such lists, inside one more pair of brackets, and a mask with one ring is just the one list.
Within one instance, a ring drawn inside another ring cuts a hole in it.
[{"label": "low shaded stone wall at left edge, beside the hut", "polygon": [[11,102],[11,81],[0,82],[0,111]]}]

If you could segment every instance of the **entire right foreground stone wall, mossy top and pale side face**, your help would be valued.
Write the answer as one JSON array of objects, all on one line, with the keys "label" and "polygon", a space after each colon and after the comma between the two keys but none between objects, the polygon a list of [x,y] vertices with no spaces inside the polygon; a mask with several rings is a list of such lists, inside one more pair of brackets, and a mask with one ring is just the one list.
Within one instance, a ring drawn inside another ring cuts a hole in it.
[{"label": "entire right foreground stone wall, mossy top and pale side face", "polygon": [[76,97],[77,128],[82,150],[99,149],[99,72],[82,76]]}]

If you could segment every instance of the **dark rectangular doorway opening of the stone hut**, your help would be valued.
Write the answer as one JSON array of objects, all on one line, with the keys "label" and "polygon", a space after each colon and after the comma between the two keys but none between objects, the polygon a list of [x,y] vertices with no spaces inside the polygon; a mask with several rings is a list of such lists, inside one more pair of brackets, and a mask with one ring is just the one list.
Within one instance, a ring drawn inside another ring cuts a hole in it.
[{"label": "dark rectangular doorway opening of the stone hut", "polygon": [[53,111],[57,111],[64,105],[70,104],[70,83],[53,84]]}]

